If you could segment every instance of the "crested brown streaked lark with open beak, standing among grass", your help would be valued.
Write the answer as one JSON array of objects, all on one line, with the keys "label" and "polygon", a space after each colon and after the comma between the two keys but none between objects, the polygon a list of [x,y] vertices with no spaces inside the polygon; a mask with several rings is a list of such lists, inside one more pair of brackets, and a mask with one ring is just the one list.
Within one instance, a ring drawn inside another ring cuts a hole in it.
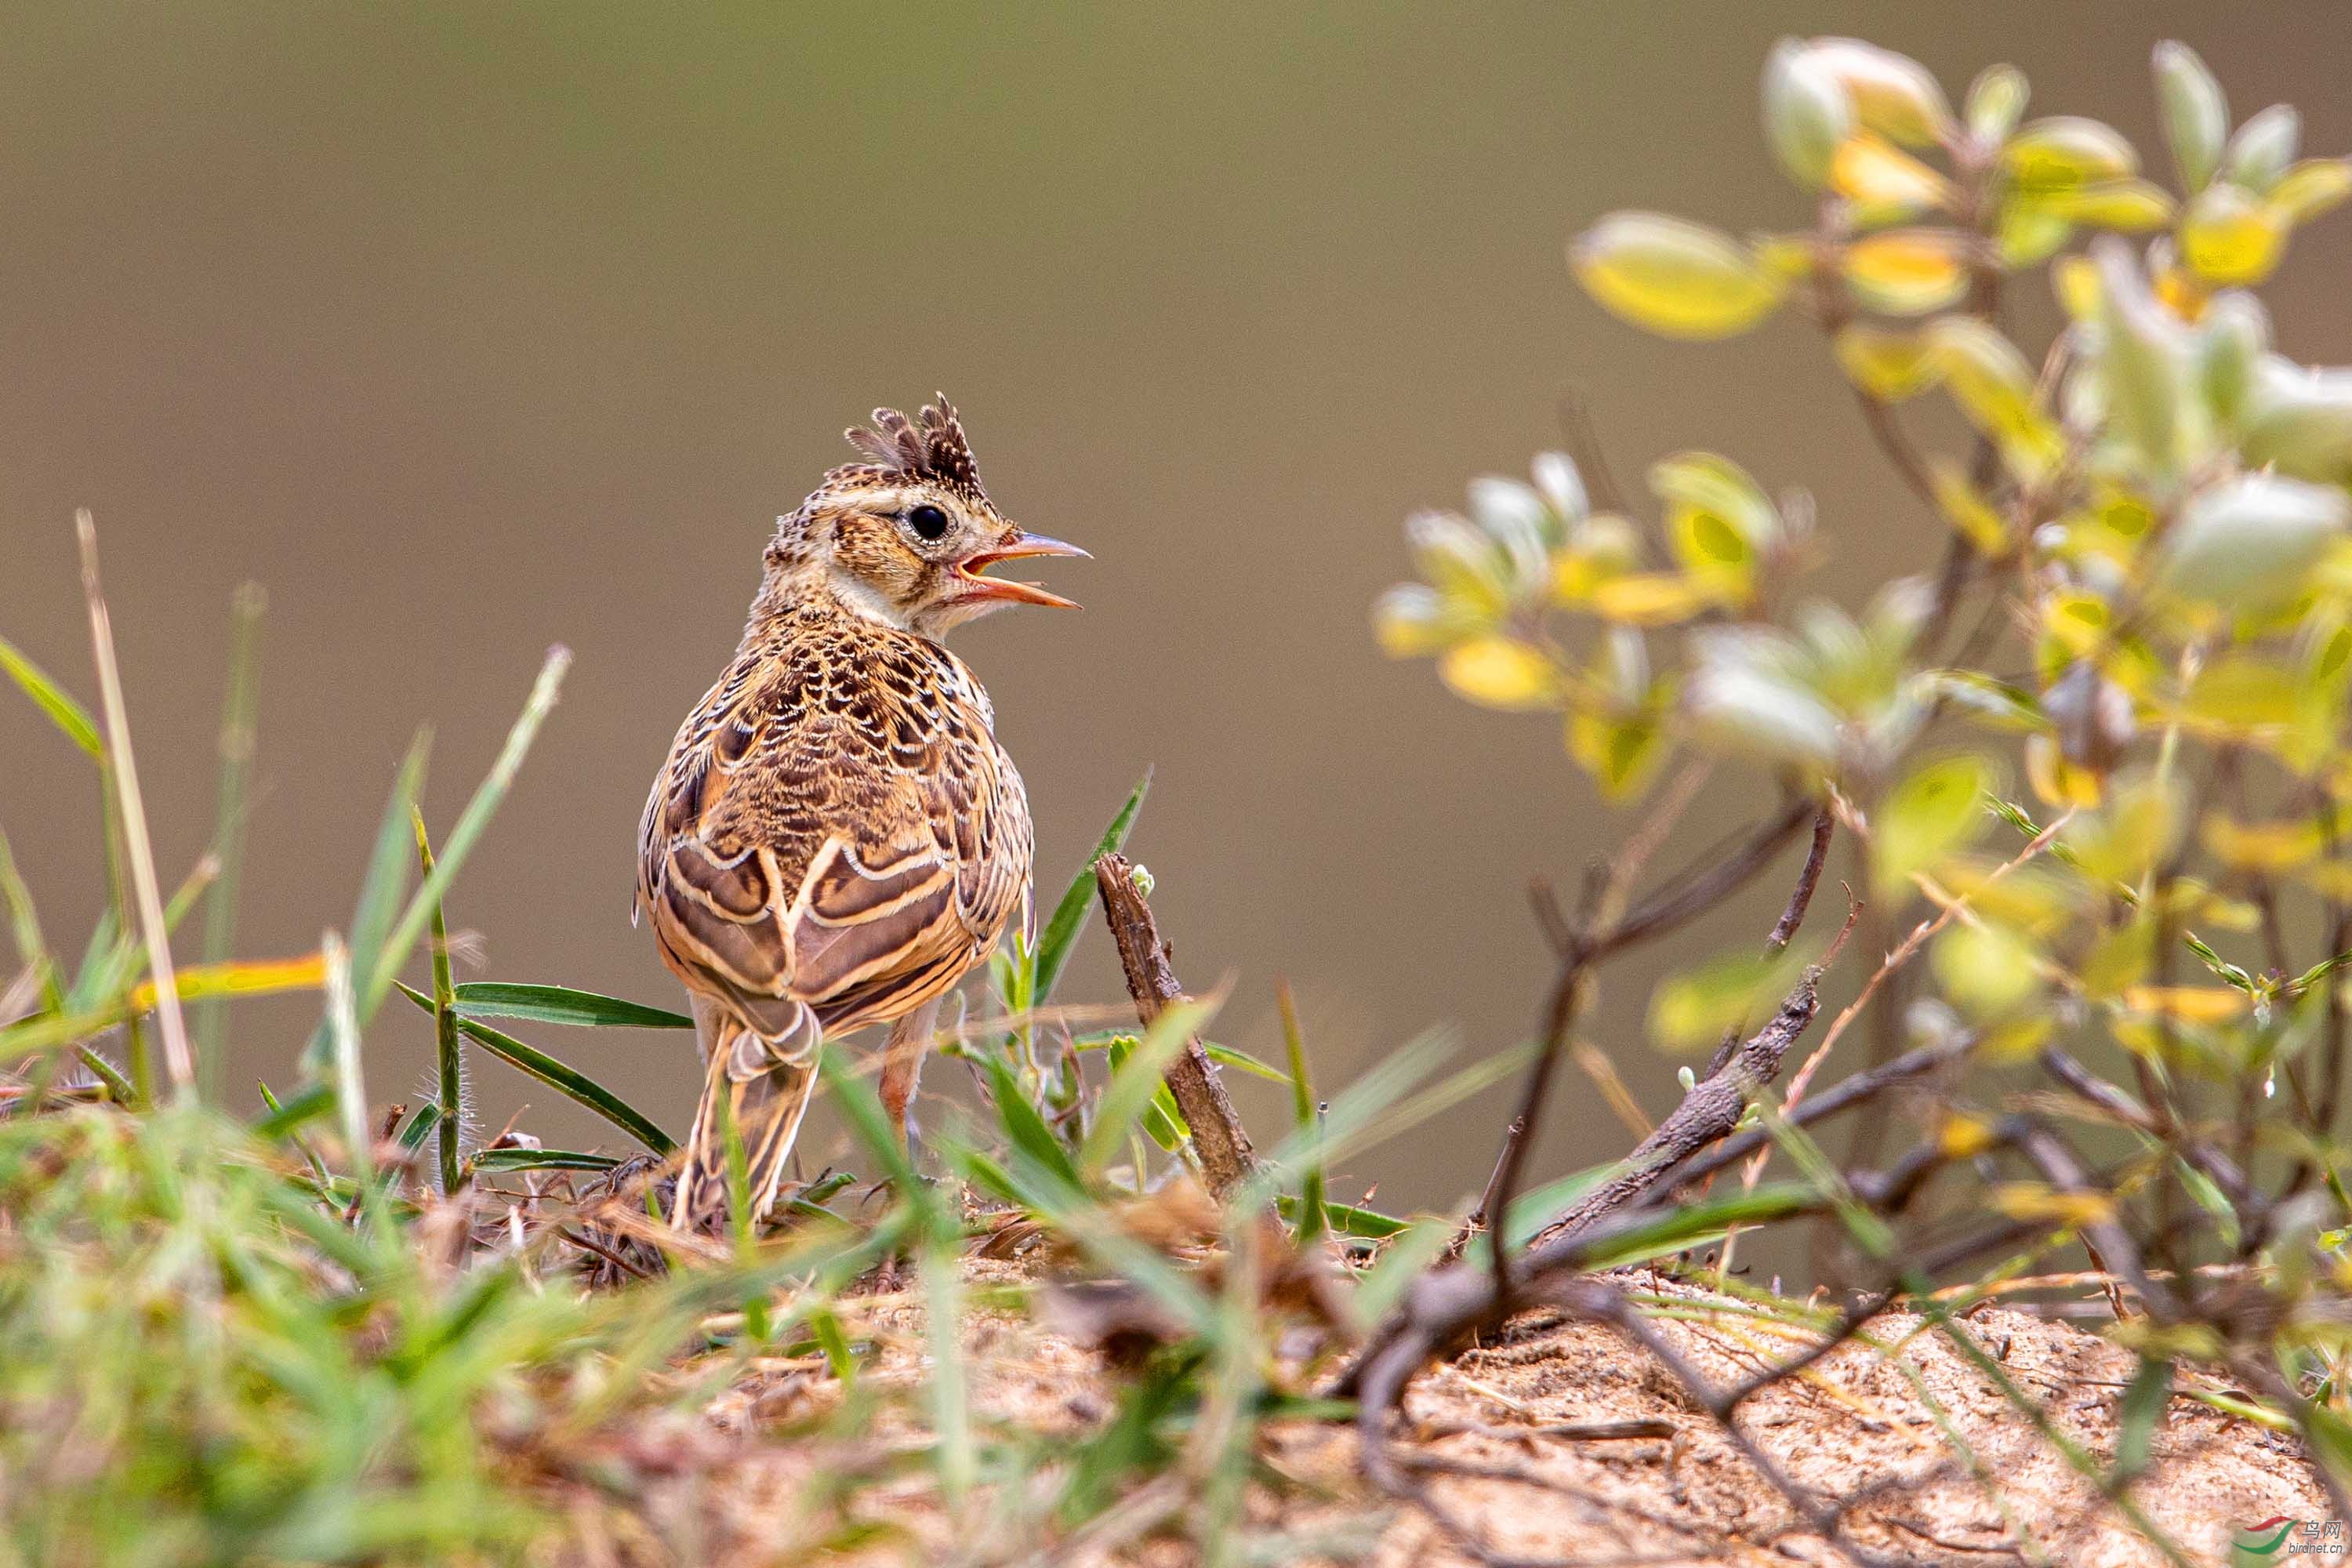
[{"label": "crested brown streaked lark with open beak, standing among grass", "polygon": [[637,907],[687,983],[703,1095],[675,1225],[727,1192],[739,1128],[753,1213],[783,1180],[816,1046],[889,1023],[882,1105],[906,1133],[938,999],[1028,907],[1030,816],[995,708],[950,628],[1070,599],[985,576],[1084,555],[981,489],[946,397],[875,409],[767,545],[734,663],[696,703],[637,830]]}]

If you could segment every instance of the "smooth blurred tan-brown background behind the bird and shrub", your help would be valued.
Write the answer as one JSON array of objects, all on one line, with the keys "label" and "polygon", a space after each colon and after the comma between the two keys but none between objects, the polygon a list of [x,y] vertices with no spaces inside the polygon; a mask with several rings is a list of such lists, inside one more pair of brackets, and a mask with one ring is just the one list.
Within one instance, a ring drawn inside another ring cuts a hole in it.
[{"label": "smooth blurred tan-brown background behind the bird and shrub", "polygon": [[[2032,113],[2143,148],[2147,49],[2178,35],[2237,115],[2286,99],[2312,150],[2352,148],[2352,16],[2324,7],[985,9],[12,7],[0,630],[94,696],[71,531],[92,505],[169,882],[212,825],[228,597],[268,585],[247,954],[348,922],[419,722],[447,830],[569,642],[452,919],[482,933],[477,978],[677,1006],[626,919],[647,780],[842,425],[946,388],[997,501],[1096,555],[1051,571],[1082,616],[960,637],[1028,776],[1047,896],[1152,764],[1134,853],[1178,971],[1235,985],[1221,1034],[1279,1051],[1287,973],[1327,1091],[1442,1020],[1503,1048],[1548,978],[1526,877],[1573,886],[1623,823],[1550,722],[1378,656],[1367,607],[1404,574],[1404,515],[1524,473],[1581,388],[1635,491],[1689,444],[1811,487],[1823,592],[1936,548],[1802,322],[1642,339],[1573,289],[1566,235],[1621,205],[1802,221],[1757,134],[1780,33],[1900,47],[1955,101],[2011,59]],[[2300,357],[2352,357],[2347,223],[2272,289]],[[1689,844],[1766,795],[1719,780]],[[12,691],[0,825],[78,952],[89,769]],[[1752,940],[1778,896],[1693,940]],[[1592,1030],[1651,1114],[1675,1093],[1639,1032],[1661,966],[1613,971]],[[1120,994],[1089,931],[1065,997]],[[393,1006],[379,1098],[430,1051]],[[313,1011],[240,1009],[240,1103]],[[684,1126],[684,1037],[522,1032]],[[524,1100],[550,1143],[597,1138],[480,1070],[489,1126]],[[1454,1201],[1501,1103],[1364,1157],[1341,1197]],[[1277,1105],[1249,1100],[1268,1128]],[[1623,1145],[1569,1074],[1541,1173]]]}]

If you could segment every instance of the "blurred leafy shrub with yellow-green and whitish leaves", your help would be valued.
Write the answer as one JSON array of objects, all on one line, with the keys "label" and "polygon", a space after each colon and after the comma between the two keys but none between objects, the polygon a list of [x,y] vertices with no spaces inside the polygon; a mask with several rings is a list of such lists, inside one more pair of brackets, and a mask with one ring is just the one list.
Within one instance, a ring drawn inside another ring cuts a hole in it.
[{"label": "blurred leafy shrub with yellow-green and whitish leaves", "polygon": [[[1724,456],[1653,463],[1653,512],[1623,515],[1543,456],[1414,520],[1421,581],[1376,621],[1468,701],[1559,715],[1609,799],[1686,757],[1823,802],[1886,938],[1863,961],[1893,950],[1877,1056],[1907,1030],[2042,1067],[1945,1131],[2025,1105],[2112,1154],[2093,1192],[2044,1161],[1980,1197],[2112,1220],[2110,1248],[2173,1279],[2260,1281],[2260,1312],[2183,1286],[2164,1345],[2225,1354],[2352,1474],[2352,369],[2277,353],[2256,296],[2352,162],[2303,158],[2286,106],[2232,122],[2183,45],[2154,89],[2164,169],[2096,120],[2027,118],[2016,68],[1955,110],[1900,54],[1785,40],[1762,120],[1802,228],[1616,212],[1569,244],[1585,294],[1658,336],[1811,317],[1915,494],[1917,576],[1858,611],[1809,595],[1839,520]],[[2051,341],[2011,336],[2020,289],[2063,310]],[[1966,423],[1947,451],[1905,409],[1936,400]],[[1689,966],[1653,1032],[1708,1046],[1788,980],[1752,952]]]}]

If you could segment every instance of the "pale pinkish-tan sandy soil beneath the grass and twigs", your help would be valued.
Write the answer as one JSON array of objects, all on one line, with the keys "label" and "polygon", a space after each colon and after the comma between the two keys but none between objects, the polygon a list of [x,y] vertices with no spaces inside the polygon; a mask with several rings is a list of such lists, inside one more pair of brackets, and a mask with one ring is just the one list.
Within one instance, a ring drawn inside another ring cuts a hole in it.
[{"label": "pale pinkish-tan sandy soil beneath the grass and twigs", "polygon": [[[1007,1274],[1009,1265],[974,1265],[976,1281]],[[1719,1382],[1802,1349],[1792,1331],[1738,1314],[1724,1298],[1646,1272],[1621,1284],[1668,1298],[1665,1335]],[[2009,1309],[1976,1312],[1969,1331],[2042,1399],[2060,1434],[2100,1460],[2112,1458],[2117,1401],[2131,1375],[2126,1352]],[[863,1378],[868,1394],[920,1378],[917,1298],[877,1298],[858,1333],[877,1345]],[[1879,1319],[1872,1340],[1875,1347],[1842,1347],[1740,1413],[1745,1432],[1795,1481],[1851,1497],[1844,1528],[1853,1544],[1936,1566],[2164,1561],[1947,1340],[1922,1331],[1915,1316]],[[978,1422],[1082,1434],[1112,1410],[1115,1373],[1103,1359],[1023,1319],[974,1314],[967,1354]],[[882,1425],[906,1436],[903,1446],[887,1436],[809,1439],[811,1422],[821,1425],[840,1401],[842,1387],[821,1361],[748,1368],[710,1403],[701,1432],[673,1434],[715,1446],[710,1458],[720,1462],[696,1467],[677,1495],[654,1500],[663,1535],[682,1523],[682,1512],[691,1514],[696,1561],[727,1568],[795,1561],[1178,1568],[1195,1559],[1164,1528],[1164,1495],[1134,1500],[1094,1533],[1054,1542],[1044,1556],[1035,1556],[1042,1542],[1007,1535],[985,1497],[950,1526],[929,1469],[908,1458],[920,1441],[910,1427]],[[1686,1403],[1663,1368],[1609,1328],[1522,1316],[1496,1342],[1425,1371],[1409,1392],[1406,1415],[1399,1448],[1409,1455],[1503,1472],[1432,1476],[1432,1486],[1439,1502],[1475,1521],[1505,1556],[1776,1568],[1849,1561],[1837,1544],[1804,1530],[1780,1493]],[[1663,1422],[1668,1436],[1588,1441],[1538,1432],[1625,1420]],[[1945,1425],[1973,1465],[1947,1441]],[[2326,1514],[2291,1439],[2194,1399],[2171,1401],[2154,1453],[2131,1502],[2190,1561],[2225,1561],[2232,1523]],[[1279,1535],[1284,1556],[1381,1568],[1472,1561],[1425,1512],[1359,1479],[1348,1427],[1277,1425],[1261,1458],[1268,1474],[1289,1483],[1254,1488],[1251,1528]],[[854,1490],[842,1486],[849,1476],[861,1479]]]}]

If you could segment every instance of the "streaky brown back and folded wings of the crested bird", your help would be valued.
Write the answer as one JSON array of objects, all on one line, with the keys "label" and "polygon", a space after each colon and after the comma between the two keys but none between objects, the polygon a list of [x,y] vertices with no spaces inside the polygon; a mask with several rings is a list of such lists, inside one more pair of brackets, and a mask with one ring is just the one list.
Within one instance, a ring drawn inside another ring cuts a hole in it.
[{"label": "streaky brown back and folded wings of the crested bird", "polygon": [[929,1001],[1028,882],[1021,780],[962,663],[931,644],[835,654],[713,686],[640,835],[670,969],[762,1034],[802,1006],[847,1032]]}]

